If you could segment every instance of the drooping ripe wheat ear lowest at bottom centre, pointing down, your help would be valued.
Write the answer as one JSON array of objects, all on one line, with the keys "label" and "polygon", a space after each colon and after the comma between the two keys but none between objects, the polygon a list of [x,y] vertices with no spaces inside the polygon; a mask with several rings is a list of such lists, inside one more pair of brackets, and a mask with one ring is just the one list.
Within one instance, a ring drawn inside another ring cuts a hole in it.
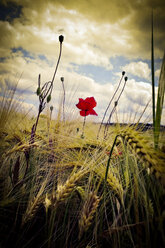
[{"label": "drooping ripe wheat ear lowest at bottom centre, pointing down", "polygon": [[82,237],[83,233],[89,229],[90,225],[92,224],[92,220],[99,205],[99,201],[100,201],[99,197],[94,192],[89,193],[88,198],[83,206],[79,220],[79,239]]}]

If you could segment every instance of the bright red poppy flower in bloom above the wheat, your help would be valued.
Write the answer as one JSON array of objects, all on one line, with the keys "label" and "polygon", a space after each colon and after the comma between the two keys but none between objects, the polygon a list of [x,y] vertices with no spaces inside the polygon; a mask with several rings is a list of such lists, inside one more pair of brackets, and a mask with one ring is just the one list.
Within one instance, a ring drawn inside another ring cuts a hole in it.
[{"label": "bright red poppy flower in bloom above the wheat", "polygon": [[93,109],[96,107],[96,101],[94,97],[87,97],[85,100],[79,98],[79,103],[76,104],[76,107],[81,109],[80,115],[87,116],[87,115],[97,115],[95,110]]}]

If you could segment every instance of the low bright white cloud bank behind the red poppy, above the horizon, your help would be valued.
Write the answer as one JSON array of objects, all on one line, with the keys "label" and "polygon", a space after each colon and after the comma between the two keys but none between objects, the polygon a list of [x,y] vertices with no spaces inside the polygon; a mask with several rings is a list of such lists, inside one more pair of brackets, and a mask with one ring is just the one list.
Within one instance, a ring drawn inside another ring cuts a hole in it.
[{"label": "low bright white cloud bank behind the red poppy, above the horizon", "polygon": [[[19,94],[22,94],[24,96],[24,106],[26,106],[26,108],[28,106],[29,108],[34,106],[33,112],[36,113],[39,103],[38,97],[35,94],[35,91],[37,89],[38,74],[41,74],[41,84],[43,85],[46,81],[52,79],[55,66],[50,66],[46,61],[40,60],[39,58],[36,58],[34,60],[29,58],[27,60],[27,58],[22,57],[22,54],[20,52],[18,54],[16,53],[15,55],[15,57],[8,58],[5,62],[2,63],[2,71],[7,68],[8,73],[1,74],[1,82],[4,82],[4,84],[5,80],[8,80],[10,82],[16,82],[21,73],[23,72],[18,83],[18,98]],[[79,75],[74,71],[67,71],[67,68],[65,68],[65,66],[61,65],[60,63],[59,70],[57,71],[57,75],[54,81],[52,101],[50,103],[54,106],[54,112],[56,114],[59,109],[61,99],[63,97],[63,90],[60,81],[61,76],[65,78],[65,110],[69,118],[79,117],[79,110],[75,106],[78,103],[78,98],[81,97],[85,99],[86,97],[94,96],[97,101],[97,106],[95,110],[98,113],[98,117],[94,116],[91,118],[94,121],[101,121],[105,109],[117,87],[117,84],[112,84],[111,82],[109,82],[107,84],[101,85],[87,76]],[[114,98],[114,101],[120,94],[120,90]],[[137,121],[139,116],[143,112],[143,109],[145,108],[146,104],[152,97],[151,92],[152,90],[150,84],[144,83],[142,81],[136,82],[134,79],[128,80],[126,83],[124,93],[122,94],[119,104],[117,106],[118,118],[120,119],[120,121],[129,121],[129,119],[131,119],[132,121],[135,119],[135,121]],[[114,106],[114,101],[112,102],[108,114],[111,112]],[[143,120],[147,118],[147,116],[151,117],[151,113],[151,106],[149,106],[148,110],[144,114]],[[134,118],[135,115],[136,118]],[[89,119],[90,117],[88,118],[88,120]],[[112,121],[114,120],[115,115],[112,118]],[[162,119],[162,123],[164,123],[163,121],[164,120]]]}]

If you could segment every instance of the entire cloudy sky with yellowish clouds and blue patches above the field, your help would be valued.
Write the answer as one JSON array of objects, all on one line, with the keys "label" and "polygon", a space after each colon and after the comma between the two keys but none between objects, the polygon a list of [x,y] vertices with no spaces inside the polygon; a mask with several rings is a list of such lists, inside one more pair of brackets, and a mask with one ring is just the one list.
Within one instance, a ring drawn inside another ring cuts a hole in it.
[{"label": "entire cloudy sky with yellowish clouds and blue patches above the field", "polygon": [[[36,113],[38,75],[42,84],[52,79],[62,34],[54,110],[62,99],[64,77],[66,114],[79,116],[78,98],[94,96],[98,117],[92,118],[100,121],[124,70],[128,81],[113,121],[116,116],[120,122],[137,121],[151,99],[152,8],[157,85],[165,49],[164,0],[1,0],[0,87],[19,81],[16,96]],[[152,121],[151,103],[143,121]]]}]

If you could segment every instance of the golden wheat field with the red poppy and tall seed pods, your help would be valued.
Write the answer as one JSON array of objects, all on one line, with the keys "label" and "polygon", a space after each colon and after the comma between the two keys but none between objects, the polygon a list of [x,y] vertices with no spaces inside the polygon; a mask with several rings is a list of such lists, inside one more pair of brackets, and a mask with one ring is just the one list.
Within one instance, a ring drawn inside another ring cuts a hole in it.
[{"label": "golden wheat field with the red poppy and tall seed pods", "polygon": [[59,60],[52,81],[38,78],[35,118],[19,111],[16,88],[1,92],[0,246],[163,248],[165,133],[157,131],[155,145],[152,129],[108,125],[124,88],[107,125],[88,122],[93,97],[79,99],[83,121],[65,119],[62,104],[52,119]]}]

